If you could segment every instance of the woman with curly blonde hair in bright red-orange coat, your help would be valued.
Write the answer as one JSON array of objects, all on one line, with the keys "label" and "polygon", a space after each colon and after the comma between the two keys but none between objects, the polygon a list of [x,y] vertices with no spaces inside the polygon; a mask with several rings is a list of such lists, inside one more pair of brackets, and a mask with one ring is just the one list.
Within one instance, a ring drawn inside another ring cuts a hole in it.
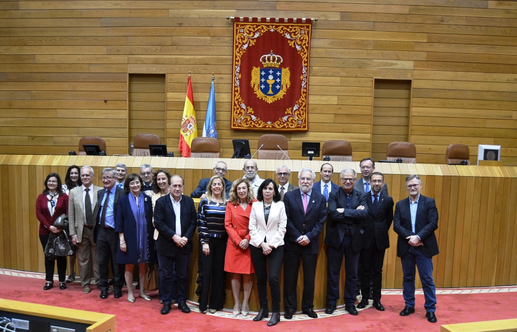
[{"label": "woman with curly blonde hair in bright red-orange coat", "polygon": [[[249,313],[249,301],[251,295],[251,274],[255,273],[249,249],[250,234],[248,224],[250,222],[251,204],[256,201],[253,198],[253,190],[246,179],[238,179],[230,189],[230,200],[226,205],[224,228],[229,235],[226,245],[224,271],[232,273],[232,292],[235,302],[234,316],[240,312],[247,316]],[[240,281],[244,299],[240,304]]]}]

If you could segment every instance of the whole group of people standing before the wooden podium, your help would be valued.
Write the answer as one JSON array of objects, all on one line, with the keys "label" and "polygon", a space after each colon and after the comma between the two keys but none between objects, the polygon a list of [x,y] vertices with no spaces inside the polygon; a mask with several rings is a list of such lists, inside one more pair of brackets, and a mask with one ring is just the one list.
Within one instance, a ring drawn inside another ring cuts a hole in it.
[{"label": "whole group of people standing before the wooden podium", "polygon": [[[400,315],[415,312],[415,273],[418,268],[425,295],[428,321],[436,322],[436,294],[432,277],[432,257],[438,254],[434,231],[438,212],[432,198],[420,195],[417,175],[406,178],[408,198],[396,204],[388,196],[384,175],[375,172],[375,163],[366,158],[360,162],[362,178],[354,169],[340,172],[340,185],[331,182],[333,167],[323,164],[321,181],[315,172],[302,168],[297,186],[289,183],[287,166],[276,170],[273,179],[261,179],[257,164],[246,160],[244,177],[233,183],[225,178],[227,165],[214,166],[214,176],[200,181],[190,197],[184,195],[184,179],[166,169],[153,171],[144,164],[140,175],[127,175],[127,167],[102,170],[104,188],[92,184],[94,171],[89,166],[71,166],[62,186],[59,175],[50,173],[45,189],[36,202],[40,220],[40,240],[45,247],[50,232],[58,233],[52,223],[61,214],[69,216],[69,234],[77,245],[79,275],[84,293],[89,293],[91,270],[107,298],[113,289],[121,297],[124,281],[128,285],[128,301],[133,295],[133,271],[139,270],[139,296],[147,301],[144,291],[147,266],[158,262],[160,312],[167,314],[174,303],[185,313],[188,288],[189,256],[193,245],[199,246],[196,294],[199,310],[215,313],[225,302],[225,274],[231,276],[235,316],[249,314],[252,274],[257,280],[260,310],[254,321],[269,318],[267,284],[272,315],[268,326],[280,321],[280,270],[284,264],[284,318],[292,319],[297,308],[297,279],[300,259],[303,268],[302,312],[317,318],[313,310],[314,282],[319,238],[326,226],[328,246],[327,304],[325,312],[336,310],[339,276],[345,257],[345,310],[357,315],[356,283],[358,265],[362,264],[360,288],[362,299],[357,305],[369,304],[384,311],[381,304],[382,267],[389,247],[388,230],[393,223],[399,235],[398,256],[404,273],[405,308]],[[127,177],[126,177],[127,175]],[[357,182],[357,183],[356,183]],[[192,198],[200,198],[195,209]],[[195,231],[199,241],[194,244]],[[155,250],[156,249],[156,250]],[[66,289],[66,258],[57,258],[59,285]],[[70,259],[72,261],[72,258]],[[109,281],[111,262],[113,279]],[[54,261],[45,259],[47,283],[53,287]],[[71,262],[72,264],[72,262]],[[74,264],[74,263],[73,263]],[[69,279],[75,274],[71,269]],[[111,288],[110,285],[113,285]],[[240,291],[244,293],[242,301]]]}]

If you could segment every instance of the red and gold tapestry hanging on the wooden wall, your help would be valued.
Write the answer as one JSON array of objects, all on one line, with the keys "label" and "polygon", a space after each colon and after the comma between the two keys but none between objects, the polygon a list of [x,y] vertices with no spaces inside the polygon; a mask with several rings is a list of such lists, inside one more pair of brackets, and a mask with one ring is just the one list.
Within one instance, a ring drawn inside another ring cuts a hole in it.
[{"label": "red and gold tapestry hanging on the wooden wall", "polygon": [[310,19],[235,18],[232,129],[307,131]]}]

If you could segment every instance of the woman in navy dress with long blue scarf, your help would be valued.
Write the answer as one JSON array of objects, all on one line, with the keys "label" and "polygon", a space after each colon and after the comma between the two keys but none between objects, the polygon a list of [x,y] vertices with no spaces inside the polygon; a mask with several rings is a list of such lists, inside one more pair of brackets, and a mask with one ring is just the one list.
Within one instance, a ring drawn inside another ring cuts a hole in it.
[{"label": "woman in navy dress with long blue scarf", "polygon": [[133,270],[138,264],[140,276],[140,297],[151,301],[144,292],[145,273],[147,264],[155,263],[155,242],[153,239],[153,204],[151,198],[142,193],[142,178],[130,174],[125,183],[126,195],[118,201],[115,215],[115,231],[119,235],[117,263],[126,264],[126,283],[128,286],[128,301],[135,301],[133,295]]}]

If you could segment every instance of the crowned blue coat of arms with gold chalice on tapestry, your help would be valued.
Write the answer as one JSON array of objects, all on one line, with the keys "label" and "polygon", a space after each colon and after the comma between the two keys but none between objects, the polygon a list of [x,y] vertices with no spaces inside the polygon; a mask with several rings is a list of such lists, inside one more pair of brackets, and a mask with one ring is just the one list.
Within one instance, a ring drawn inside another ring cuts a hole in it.
[{"label": "crowned blue coat of arms with gold chalice on tapestry", "polygon": [[291,86],[289,81],[291,73],[289,68],[279,68],[283,59],[280,55],[273,54],[273,51],[261,56],[260,61],[264,68],[253,67],[251,87],[258,98],[271,104],[284,97]]}]

